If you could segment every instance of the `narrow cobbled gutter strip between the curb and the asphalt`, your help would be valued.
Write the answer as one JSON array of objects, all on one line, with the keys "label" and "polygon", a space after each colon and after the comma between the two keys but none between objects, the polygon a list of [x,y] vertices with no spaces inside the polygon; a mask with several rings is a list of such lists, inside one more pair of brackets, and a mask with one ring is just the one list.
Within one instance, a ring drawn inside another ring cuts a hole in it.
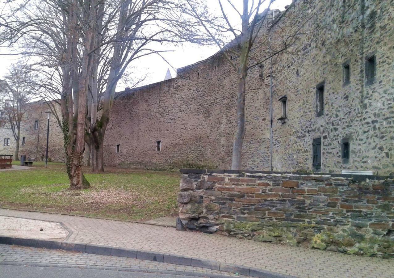
[{"label": "narrow cobbled gutter strip between the curb and the asphalt", "polygon": [[[7,263],[20,263],[23,265],[56,265],[58,267],[100,267],[100,268],[122,268],[124,271],[149,271],[167,272],[176,274],[193,274],[195,276],[236,276],[227,272],[203,269],[200,267],[190,267],[183,265],[173,265],[170,263],[159,263],[156,261],[145,261],[126,257],[113,257],[64,250],[48,250],[43,248],[30,248],[14,245],[0,244],[0,265]],[[0,267],[1,268],[1,267]],[[0,274],[1,276],[1,274]],[[239,277],[239,276],[238,276]],[[245,276],[243,276],[245,277]]]}]

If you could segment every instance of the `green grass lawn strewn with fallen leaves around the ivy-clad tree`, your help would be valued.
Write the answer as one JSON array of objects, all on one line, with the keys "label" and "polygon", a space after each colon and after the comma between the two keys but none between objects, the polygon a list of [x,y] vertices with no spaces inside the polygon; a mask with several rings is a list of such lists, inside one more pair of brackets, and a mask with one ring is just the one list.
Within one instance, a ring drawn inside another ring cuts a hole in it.
[{"label": "green grass lawn strewn with fallen leaves around the ivy-clad tree", "polygon": [[[13,162],[19,164],[19,161]],[[176,172],[84,169],[91,188],[69,190],[65,165],[34,162],[32,170],[0,172],[0,206],[124,220],[177,215]]]}]

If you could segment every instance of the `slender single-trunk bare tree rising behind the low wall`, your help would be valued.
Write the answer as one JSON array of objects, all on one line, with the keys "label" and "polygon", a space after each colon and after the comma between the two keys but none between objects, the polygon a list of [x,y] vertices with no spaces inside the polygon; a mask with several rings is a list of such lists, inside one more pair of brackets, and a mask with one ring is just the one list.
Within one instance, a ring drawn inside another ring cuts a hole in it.
[{"label": "slender single-trunk bare tree rising behind the low wall", "polygon": [[[304,22],[297,22],[298,24],[294,28],[290,28],[291,32],[284,34],[281,38],[281,44],[277,49],[271,49],[265,47],[268,45],[268,36],[264,38],[263,32],[264,26],[267,26],[266,20],[269,19],[269,8],[275,0],[243,0],[242,10],[239,10],[240,1],[227,0],[223,5],[222,0],[217,0],[221,14],[222,21],[212,22],[206,17],[204,12],[199,10],[199,7],[195,3],[188,1],[191,14],[199,19],[203,26],[206,34],[212,38],[212,40],[219,47],[220,51],[217,54],[220,57],[225,58],[230,66],[236,71],[238,76],[237,85],[237,104],[236,104],[236,132],[234,135],[234,143],[232,148],[232,166],[234,170],[240,170],[242,166],[242,144],[245,136],[245,95],[246,95],[246,81],[247,74],[250,69],[261,65],[264,61],[269,58],[288,50],[294,46],[297,42],[298,35],[301,35],[302,26],[309,21],[307,19]],[[263,6],[267,6],[264,11],[260,13]],[[227,10],[227,11],[226,11]],[[234,24],[234,20],[231,20],[228,13],[232,12],[238,15],[240,24]],[[272,13],[271,13],[272,15]],[[272,19],[272,17],[271,17]],[[289,28],[288,28],[289,29]],[[223,41],[223,34],[230,34],[233,39],[230,43]],[[252,50],[259,49],[263,51],[262,55],[258,58],[251,54]],[[235,59],[236,58],[236,59]]]}]

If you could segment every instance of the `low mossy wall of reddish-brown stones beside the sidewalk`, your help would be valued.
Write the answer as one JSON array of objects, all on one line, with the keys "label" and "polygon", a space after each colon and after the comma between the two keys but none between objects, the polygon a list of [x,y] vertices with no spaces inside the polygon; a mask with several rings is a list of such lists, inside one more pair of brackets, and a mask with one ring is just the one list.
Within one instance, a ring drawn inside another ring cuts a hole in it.
[{"label": "low mossy wall of reddish-brown stones beside the sidewalk", "polygon": [[177,229],[394,257],[394,177],[182,169]]}]

